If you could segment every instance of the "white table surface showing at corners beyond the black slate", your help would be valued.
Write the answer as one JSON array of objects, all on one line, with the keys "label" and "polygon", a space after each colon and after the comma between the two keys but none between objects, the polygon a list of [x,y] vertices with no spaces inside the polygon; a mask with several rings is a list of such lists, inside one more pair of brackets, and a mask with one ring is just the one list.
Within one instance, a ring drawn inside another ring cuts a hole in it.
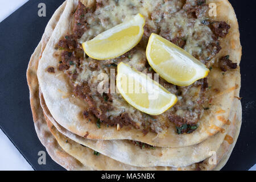
[{"label": "white table surface showing at corners beyond the black slate", "polygon": [[[28,0],[0,0],[0,22],[17,10]],[[3,170],[33,170],[16,147],[0,130],[0,171]],[[256,164],[250,169],[256,171]]]}]

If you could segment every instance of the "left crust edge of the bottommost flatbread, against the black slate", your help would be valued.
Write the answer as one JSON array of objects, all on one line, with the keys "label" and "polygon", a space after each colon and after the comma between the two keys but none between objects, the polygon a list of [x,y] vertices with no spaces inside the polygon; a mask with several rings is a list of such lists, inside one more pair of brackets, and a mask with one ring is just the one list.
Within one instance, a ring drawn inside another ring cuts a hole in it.
[{"label": "left crust edge of the bottommost flatbread, against the black slate", "polygon": [[[49,20],[46,30],[47,32],[53,31],[56,26],[56,23],[59,20],[63,10],[65,9],[66,2],[63,3],[53,14],[51,20]],[[38,68],[38,59],[42,55],[42,50],[46,46],[47,39],[49,36],[47,34],[43,35],[44,40],[40,41],[36,47],[34,53],[30,58],[30,63],[28,64],[27,69],[27,82],[30,89],[30,105],[32,110],[32,116],[34,120],[36,134],[40,142],[46,147],[48,154],[51,156],[56,163],[63,166],[68,170],[89,170],[90,168],[83,166],[78,160],[73,158],[71,155],[67,154],[57,143],[57,140],[53,137],[51,132],[48,129],[46,121],[44,119],[42,108],[40,107],[39,101],[39,83],[36,76]],[[45,42],[46,41],[46,42]],[[42,42],[45,46],[42,46]]]}]

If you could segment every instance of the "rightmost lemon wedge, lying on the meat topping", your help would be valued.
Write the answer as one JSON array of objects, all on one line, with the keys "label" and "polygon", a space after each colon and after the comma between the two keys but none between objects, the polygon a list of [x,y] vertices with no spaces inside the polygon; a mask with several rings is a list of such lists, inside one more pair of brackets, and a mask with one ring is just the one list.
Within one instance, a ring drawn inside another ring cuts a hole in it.
[{"label": "rightmost lemon wedge, lying on the meat topping", "polygon": [[146,56],[155,72],[174,85],[191,85],[210,72],[187,51],[156,34],[150,36]]}]

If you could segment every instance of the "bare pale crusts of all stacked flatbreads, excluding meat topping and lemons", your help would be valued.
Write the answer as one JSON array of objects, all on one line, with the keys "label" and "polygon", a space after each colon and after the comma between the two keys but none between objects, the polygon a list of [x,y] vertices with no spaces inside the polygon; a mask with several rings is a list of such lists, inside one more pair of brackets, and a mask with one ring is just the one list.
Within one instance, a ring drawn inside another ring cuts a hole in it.
[{"label": "bare pale crusts of all stacked flatbreads, excluding meat topping and lemons", "polygon": [[[100,3],[81,2],[86,7]],[[139,2],[131,1],[134,6]],[[214,19],[225,20],[231,27],[217,55],[229,55],[239,65],[241,45],[236,14],[228,1],[212,0],[207,4],[212,2],[217,4],[218,16]],[[149,131],[146,135],[134,127],[117,130],[104,123],[97,127],[95,122],[81,117],[86,101],[74,97],[64,73],[56,71],[59,64],[56,45],[70,34],[77,6],[79,1],[68,0],[56,10],[27,69],[36,133],[51,158],[68,170],[220,170],[224,167],[241,127],[240,68],[225,75],[213,68],[208,79],[211,87],[219,90],[209,92],[214,101],[192,133],[177,134],[172,125],[164,134]],[[147,19],[146,13],[142,13]],[[50,66],[55,68],[55,73],[46,71]]]}]

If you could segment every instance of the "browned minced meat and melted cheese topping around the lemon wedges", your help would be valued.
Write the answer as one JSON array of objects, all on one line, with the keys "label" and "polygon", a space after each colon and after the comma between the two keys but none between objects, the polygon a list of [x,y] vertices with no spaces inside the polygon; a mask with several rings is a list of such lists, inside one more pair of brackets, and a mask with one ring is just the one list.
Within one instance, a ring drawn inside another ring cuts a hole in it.
[{"label": "browned minced meat and melted cheese topping around the lemon wedges", "polygon": [[[165,113],[152,116],[129,105],[121,94],[113,93],[114,90],[98,93],[97,86],[101,80],[97,80],[97,76],[106,73],[110,79],[110,69],[115,69],[116,75],[116,67],[121,61],[143,73],[155,73],[145,55],[152,32],[184,48],[210,68],[214,64],[210,60],[221,49],[218,37],[224,38],[230,26],[225,22],[212,22],[207,12],[208,6],[203,0],[97,0],[90,9],[79,2],[73,14],[73,32],[64,36],[57,46],[61,51],[58,69],[69,76],[74,94],[89,105],[89,109],[83,113],[84,118],[96,117],[97,125],[103,123],[111,127],[134,127],[144,135],[148,131],[165,132],[171,125],[176,126],[179,134],[195,131],[204,113],[204,106],[208,105],[205,96],[208,90],[207,78],[190,86],[176,86],[159,77],[159,83],[176,94],[178,102]],[[148,18],[143,38],[136,47],[122,56],[104,61],[94,60],[84,54],[82,42],[93,39],[138,13]],[[235,67],[227,59],[220,59],[219,64],[223,71]]]}]

